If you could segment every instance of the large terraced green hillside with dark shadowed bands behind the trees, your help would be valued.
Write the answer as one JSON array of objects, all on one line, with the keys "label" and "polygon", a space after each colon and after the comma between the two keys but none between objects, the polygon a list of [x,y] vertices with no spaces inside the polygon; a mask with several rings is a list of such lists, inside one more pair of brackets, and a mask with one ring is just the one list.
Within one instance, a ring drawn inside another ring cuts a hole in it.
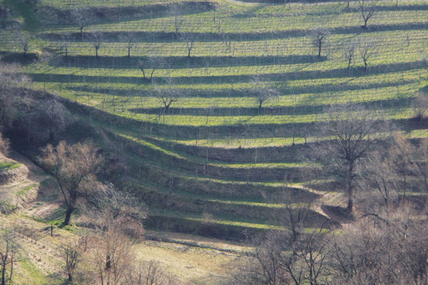
[{"label": "large terraced green hillside with dark shadowed bands behind the trees", "polygon": [[427,84],[426,1],[376,1],[366,28],[358,1],[44,0],[38,19],[15,6],[26,30],[1,31],[3,61],[126,157],[153,229],[240,239],[281,227],[285,205],[306,227],[334,223],[321,206],[341,195],[310,189],[298,158],[326,139],[315,123],[352,103],[411,131]]}]

